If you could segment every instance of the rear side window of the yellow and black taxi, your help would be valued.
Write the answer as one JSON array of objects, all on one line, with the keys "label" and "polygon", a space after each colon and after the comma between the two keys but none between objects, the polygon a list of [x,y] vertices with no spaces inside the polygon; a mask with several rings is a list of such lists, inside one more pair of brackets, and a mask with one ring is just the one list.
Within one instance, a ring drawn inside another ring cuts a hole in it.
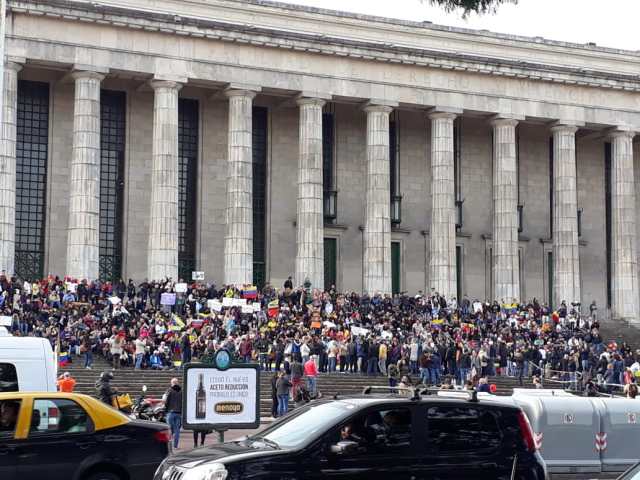
[{"label": "rear side window of the yellow and black taxi", "polygon": [[33,402],[30,435],[87,433],[92,430],[91,418],[73,400],[55,398]]}]

